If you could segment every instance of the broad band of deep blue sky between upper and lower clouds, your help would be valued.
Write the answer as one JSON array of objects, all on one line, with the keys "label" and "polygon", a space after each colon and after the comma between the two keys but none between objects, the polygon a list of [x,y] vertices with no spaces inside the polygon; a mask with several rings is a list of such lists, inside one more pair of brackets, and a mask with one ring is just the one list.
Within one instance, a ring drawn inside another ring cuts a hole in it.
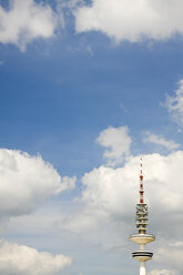
[{"label": "broad band of deep blue sky between upper and lower clouds", "polygon": [[39,152],[68,174],[99,165],[93,141],[109,125],[129,125],[139,141],[151,129],[175,136],[160,103],[181,79],[181,38],[150,48],[68,31],[48,43],[32,42],[26,52],[1,44],[3,147]]}]

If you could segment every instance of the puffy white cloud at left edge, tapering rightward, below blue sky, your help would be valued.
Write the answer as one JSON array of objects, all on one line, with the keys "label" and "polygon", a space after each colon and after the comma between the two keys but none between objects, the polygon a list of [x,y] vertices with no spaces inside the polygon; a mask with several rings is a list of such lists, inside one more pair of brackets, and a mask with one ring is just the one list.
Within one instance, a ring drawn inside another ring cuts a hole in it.
[{"label": "puffy white cloud at left edge, tapering rightward, below blue sky", "polygon": [[30,213],[51,195],[74,187],[75,177],[61,177],[41,156],[0,149],[0,215]]}]

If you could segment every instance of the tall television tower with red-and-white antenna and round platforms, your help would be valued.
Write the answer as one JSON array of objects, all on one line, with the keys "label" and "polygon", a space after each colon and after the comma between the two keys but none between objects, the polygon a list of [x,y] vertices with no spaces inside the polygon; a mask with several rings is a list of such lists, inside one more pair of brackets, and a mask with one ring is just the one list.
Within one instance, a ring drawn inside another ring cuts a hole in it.
[{"label": "tall television tower with red-and-white antenna and round platforms", "polygon": [[146,275],[145,262],[153,256],[152,252],[145,249],[145,245],[155,241],[155,236],[146,234],[148,221],[148,205],[144,203],[143,190],[143,174],[142,174],[142,159],[140,164],[140,202],[136,204],[135,225],[139,231],[138,234],[130,235],[130,241],[140,245],[139,251],[132,253],[132,257],[140,262],[140,275]]}]

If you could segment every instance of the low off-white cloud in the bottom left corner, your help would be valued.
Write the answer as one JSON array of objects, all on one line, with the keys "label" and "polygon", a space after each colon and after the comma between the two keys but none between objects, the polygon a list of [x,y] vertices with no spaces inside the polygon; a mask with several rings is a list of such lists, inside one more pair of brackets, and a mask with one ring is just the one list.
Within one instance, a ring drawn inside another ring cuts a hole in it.
[{"label": "low off-white cloud in the bottom left corner", "polygon": [[29,246],[0,242],[0,273],[3,275],[57,275],[70,264],[71,258],[61,254],[53,256]]}]

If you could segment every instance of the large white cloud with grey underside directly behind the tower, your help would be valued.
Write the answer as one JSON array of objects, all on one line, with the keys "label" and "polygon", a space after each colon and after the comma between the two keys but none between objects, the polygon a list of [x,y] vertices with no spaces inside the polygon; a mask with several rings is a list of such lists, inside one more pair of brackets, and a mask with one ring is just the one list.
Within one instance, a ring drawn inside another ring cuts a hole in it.
[{"label": "large white cloud with grey underside directly behind the tower", "polygon": [[[143,155],[149,232],[176,242],[182,240],[183,226],[182,163],[183,151],[166,156]],[[85,173],[81,197],[74,202],[73,210],[61,213],[59,226],[82,236],[85,232],[89,242],[104,247],[126,249],[126,236],[136,231],[133,220],[139,202],[139,164],[140,157],[134,156],[123,167],[100,166]]]}]

